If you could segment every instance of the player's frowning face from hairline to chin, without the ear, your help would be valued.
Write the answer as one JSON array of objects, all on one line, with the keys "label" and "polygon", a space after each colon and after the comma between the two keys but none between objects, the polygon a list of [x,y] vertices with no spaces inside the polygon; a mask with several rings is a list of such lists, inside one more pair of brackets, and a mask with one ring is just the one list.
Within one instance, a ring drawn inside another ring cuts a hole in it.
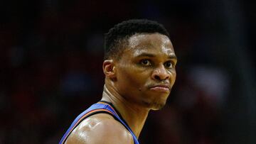
[{"label": "player's frowning face from hairline to chin, without the ear", "polygon": [[173,45],[166,35],[132,35],[116,62],[117,92],[139,106],[161,109],[176,79],[176,62]]}]

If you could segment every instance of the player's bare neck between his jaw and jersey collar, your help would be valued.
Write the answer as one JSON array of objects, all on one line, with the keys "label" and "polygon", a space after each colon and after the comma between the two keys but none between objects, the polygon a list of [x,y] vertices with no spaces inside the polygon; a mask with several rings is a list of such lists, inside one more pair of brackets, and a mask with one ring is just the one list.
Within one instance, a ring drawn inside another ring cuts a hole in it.
[{"label": "player's bare neck between his jaw and jersey collar", "polygon": [[109,88],[104,86],[102,100],[109,101],[114,105],[137,138],[139,138],[139,133],[142,131],[149,109],[132,104],[130,101],[127,101],[119,95],[112,87]]}]

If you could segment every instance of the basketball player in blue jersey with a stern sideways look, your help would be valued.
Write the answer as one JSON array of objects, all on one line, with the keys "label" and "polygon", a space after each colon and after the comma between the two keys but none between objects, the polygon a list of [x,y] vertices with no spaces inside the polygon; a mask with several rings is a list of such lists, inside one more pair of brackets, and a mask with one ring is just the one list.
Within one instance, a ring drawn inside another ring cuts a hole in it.
[{"label": "basketball player in blue jersey with a stern sideways look", "polygon": [[137,19],[111,28],[105,35],[102,99],[75,119],[60,143],[139,143],[149,111],[166,104],[176,62],[161,24]]}]

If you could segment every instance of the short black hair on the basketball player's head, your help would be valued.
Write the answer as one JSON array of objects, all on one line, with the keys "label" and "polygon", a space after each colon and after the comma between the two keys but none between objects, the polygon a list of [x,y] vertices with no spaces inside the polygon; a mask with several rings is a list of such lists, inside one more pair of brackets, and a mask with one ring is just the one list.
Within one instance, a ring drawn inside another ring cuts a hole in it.
[{"label": "short black hair on the basketball player's head", "polygon": [[108,33],[105,33],[104,59],[115,57],[118,60],[124,50],[124,43],[127,42],[125,40],[128,40],[136,33],[161,33],[169,37],[166,28],[156,21],[147,19],[122,21],[122,23],[118,23],[111,28]]}]

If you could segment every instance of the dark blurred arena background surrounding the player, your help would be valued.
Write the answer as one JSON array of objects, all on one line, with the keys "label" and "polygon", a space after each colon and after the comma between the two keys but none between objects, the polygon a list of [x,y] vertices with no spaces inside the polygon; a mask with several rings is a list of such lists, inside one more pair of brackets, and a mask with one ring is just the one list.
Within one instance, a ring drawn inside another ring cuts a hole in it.
[{"label": "dark blurred arena background surrounding the player", "polygon": [[58,143],[100,100],[104,33],[129,18],[163,23],[178,56],[141,143],[256,143],[255,12],[242,0],[2,0],[0,143]]}]

